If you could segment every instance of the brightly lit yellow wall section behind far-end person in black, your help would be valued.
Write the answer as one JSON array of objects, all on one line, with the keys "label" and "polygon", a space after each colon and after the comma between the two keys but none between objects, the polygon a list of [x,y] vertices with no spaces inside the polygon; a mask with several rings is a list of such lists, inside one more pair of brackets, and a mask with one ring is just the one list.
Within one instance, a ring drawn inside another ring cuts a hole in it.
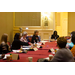
[{"label": "brightly lit yellow wall section behind far-end person in black", "polygon": [[55,29],[59,36],[68,36],[68,12],[55,12]]}]

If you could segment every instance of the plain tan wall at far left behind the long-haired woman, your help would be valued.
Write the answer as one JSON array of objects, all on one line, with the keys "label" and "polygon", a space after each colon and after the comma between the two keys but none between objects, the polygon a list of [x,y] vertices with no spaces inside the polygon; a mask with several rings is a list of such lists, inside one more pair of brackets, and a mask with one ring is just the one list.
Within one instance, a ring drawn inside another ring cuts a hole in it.
[{"label": "plain tan wall at far left behind the long-haired woman", "polygon": [[3,33],[9,36],[8,41],[12,42],[13,37],[13,13],[0,12],[0,40]]}]

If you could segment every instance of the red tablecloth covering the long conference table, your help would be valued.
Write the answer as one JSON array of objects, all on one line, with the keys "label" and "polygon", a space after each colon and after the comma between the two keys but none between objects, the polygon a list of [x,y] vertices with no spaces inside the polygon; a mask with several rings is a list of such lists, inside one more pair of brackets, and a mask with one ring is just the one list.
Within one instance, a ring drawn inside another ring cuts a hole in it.
[{"label": "red tablecloth covering the long conference table", "polygon": [[[28,61],[28,57],[33,57],[33,62],[37,62],[38,59],[40,58],[46,58],[49,56],[49,54],[51,54],[49,51],[49,49],[54,48],[57,49],[57,43],[56,42],[46,42],[45,45],[42,45],[43,48],[39,49],[38,51],[28,51],[28,53],[18,53],[20,59],[19,60],[13,60],[10,62],[29,62]],[[13,52],[11,52],[13,53]],[[15,54],[15,53],[13,53]],[[3,60],[1,59],[0,62],[7,62],[7,60]]]}]

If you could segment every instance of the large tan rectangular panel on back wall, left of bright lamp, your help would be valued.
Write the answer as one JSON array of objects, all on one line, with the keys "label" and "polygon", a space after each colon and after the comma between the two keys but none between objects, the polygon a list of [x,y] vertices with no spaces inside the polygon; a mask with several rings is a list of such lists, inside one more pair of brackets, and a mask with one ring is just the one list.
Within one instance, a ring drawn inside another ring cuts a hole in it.
[{"label": "large tan rectangular panel on back wall, left of bright lamp", "polygon": [[41,12],[15,12],[15,26],[41,26]]}]

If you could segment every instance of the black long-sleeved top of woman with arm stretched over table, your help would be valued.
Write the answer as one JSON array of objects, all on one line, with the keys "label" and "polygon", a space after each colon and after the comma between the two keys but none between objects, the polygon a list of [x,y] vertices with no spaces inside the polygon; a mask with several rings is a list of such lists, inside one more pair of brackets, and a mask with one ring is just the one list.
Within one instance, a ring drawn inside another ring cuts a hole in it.
[{"label": "black long-sleeved top of woman with arm stretched over table", "polygon": [[12,50],[12,49],[17,49],[17,50],[18,50],[18,49],[20,49],[21,46],[23,46],[23,45],[28,46],[29,44],[28,44],[28,42],[21,42],[20,40],[15,39],[15,40],[13,41],[13,43],[12,43],[11,50]]}]

